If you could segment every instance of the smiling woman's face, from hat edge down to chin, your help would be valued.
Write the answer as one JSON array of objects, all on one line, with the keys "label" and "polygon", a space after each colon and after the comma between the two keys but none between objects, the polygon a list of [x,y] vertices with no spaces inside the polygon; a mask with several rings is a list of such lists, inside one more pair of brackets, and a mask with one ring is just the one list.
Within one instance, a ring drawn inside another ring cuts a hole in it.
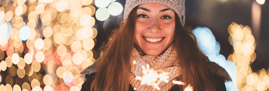
[{"label": "smiling woman's face, from hat edge down to chin", "polygon": [[140,4],[135,19],[135,44],[147,55],[159,55],[172,43],[175,12],[161,3]]}]

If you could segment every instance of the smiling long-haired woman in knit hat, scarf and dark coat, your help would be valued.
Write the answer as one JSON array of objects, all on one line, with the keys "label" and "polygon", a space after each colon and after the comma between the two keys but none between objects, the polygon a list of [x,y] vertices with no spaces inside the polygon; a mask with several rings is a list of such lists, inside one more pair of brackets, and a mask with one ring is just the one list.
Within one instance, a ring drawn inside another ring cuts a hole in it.
[{"label": "smiling long-haired woman in knit hat, scarf and dark coat", "polygon": [[111,34],[103,56],[82,72],[87,80],[81,91],[156,90],[137,80],[147,64],[169,74],[169,81],[158,84],[161,91],[183,91],[188,84],[193,91],[226,91],[224,81],[231,81],[227,72],[210,62],[191,30],[183,28],[184,2],[126,0],[125,21]]}]

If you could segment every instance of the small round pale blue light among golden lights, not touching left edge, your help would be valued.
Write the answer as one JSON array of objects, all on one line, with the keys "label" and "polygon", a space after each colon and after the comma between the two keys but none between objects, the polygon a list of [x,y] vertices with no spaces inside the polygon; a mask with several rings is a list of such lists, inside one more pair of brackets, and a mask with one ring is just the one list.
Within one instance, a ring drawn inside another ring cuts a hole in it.
[{"label": "small round pale blue light among golden lights, not touching left edge", "polygon": [[28,26],[24,26],[19,31],[19,36],[22,41],[26,41],[31,36],[31,30]]}]

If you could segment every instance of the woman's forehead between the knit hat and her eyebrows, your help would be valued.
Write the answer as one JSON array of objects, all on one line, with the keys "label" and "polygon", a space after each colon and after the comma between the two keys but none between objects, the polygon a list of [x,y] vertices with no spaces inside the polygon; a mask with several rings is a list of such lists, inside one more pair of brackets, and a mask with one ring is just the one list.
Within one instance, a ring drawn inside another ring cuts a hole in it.
[{"label": "woman's forehead between the knit hat and her eyebrows", "polygon": [[168,7],[167,5],[157,3],[157,2],[148,2],[148,3],[140,4],[139,7],[143,7],[149,10],[163,10],[167,8],[172,10],[172,8]]}]

